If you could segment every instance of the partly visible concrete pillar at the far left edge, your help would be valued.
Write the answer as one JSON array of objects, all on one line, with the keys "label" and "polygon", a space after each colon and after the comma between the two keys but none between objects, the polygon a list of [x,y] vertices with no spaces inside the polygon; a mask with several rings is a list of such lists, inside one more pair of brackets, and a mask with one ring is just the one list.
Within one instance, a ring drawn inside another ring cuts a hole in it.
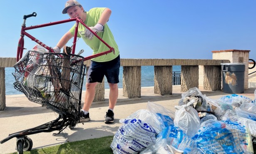
[{"label": "partly visible concrete pillar at the far left edge", "polygon": [[0,111],[5,107],[5,67],[0,67]]}]

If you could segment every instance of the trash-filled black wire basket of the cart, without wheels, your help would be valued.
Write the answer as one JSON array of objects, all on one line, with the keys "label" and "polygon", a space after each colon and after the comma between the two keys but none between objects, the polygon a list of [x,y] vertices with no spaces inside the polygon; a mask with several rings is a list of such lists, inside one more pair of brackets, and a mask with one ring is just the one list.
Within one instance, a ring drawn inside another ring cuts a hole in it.
[{"label": "trash-filled black wire basket of the cart, without wheels", "polygon": [[29,51],[14,65],[15,89],[58,114],[77,114],[85,66],[83,57],[71,56]]}]

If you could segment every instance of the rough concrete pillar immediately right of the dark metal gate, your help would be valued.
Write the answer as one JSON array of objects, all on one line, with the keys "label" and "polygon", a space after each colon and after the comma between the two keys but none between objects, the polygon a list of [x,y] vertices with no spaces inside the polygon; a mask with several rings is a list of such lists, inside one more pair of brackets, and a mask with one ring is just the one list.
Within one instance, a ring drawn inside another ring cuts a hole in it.
[{"label": "rough concrete pillar immediately right of the dark metal gate", "polygon": [[199,86],[199,67],[181,65],[181,92]]}]

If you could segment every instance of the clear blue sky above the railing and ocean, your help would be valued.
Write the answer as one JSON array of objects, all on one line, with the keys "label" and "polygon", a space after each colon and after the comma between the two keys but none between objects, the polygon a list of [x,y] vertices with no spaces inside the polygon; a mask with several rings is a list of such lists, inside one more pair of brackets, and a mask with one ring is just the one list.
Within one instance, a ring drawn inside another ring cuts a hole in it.
[{"label": "clear blue sky above the railing and ocean", "polygon": [[[16,57],[23,15],[26,26],[69,18],[62,14],[66,0],[12,0],[1,8],[0,57]],[[251,50],[256,60],[255,0],[80,0],[85,10],[109,7],[107,23],[119,46],[121,58],[211,59],[214,50]],[[54,47],[73,22],[29,30]],[[35,45],[25,38],[25,48]],[[72,45],[72,40],[67,46]],[[76,52],[92,50],[82,39]],[[27,51],[25,50],[25,51]]]}]

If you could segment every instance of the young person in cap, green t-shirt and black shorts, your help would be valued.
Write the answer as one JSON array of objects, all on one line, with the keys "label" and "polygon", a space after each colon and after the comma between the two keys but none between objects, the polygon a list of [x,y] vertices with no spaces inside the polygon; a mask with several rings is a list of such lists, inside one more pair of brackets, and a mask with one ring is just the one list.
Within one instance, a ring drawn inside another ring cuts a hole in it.
[{"label": "young person in cap, green t-shirt and black shorts", "polygon": [[[114,48],[114,53],[110,52],[106,55],[92,58],[89,70],[87,72],[86,80],[86,91],[85,91],[85,104],[81,110],[80,122],[87,122],[90,120],[89,108],[91,107],[92,101],[95,96],[95,87],[97,82],[102,82],[104,75],[109,83],[109,109],[105,115],[105,123],[114,122],[113,109],[117,103],[118,97],[118,86],[119,82],[119,68],[120,68],[120,57],[117,43],[114,40],[114,36],[110,31],[107,22],[111,15],[109,8],[95,7],[90,9],[88,12],[85,11],[84,7],[80,5],[76,0],[68,0],[63,9],[63,14],[68,14],[70,18],[78,17],[82,22],[85,23],[91,30],[93,30],[99,37],[102,38],[109,46]],[[55,52],[60,52],[60,49],[72,38],[75,33],[75,25],[62,36],[56,47],[53,49]],[[101,41],[93,35],[87,28],[82,24],[78,25],[77,37],[82,37],[85,43],[92,48],[93,55],[109,50],[109,48],[101,43]]]}]

